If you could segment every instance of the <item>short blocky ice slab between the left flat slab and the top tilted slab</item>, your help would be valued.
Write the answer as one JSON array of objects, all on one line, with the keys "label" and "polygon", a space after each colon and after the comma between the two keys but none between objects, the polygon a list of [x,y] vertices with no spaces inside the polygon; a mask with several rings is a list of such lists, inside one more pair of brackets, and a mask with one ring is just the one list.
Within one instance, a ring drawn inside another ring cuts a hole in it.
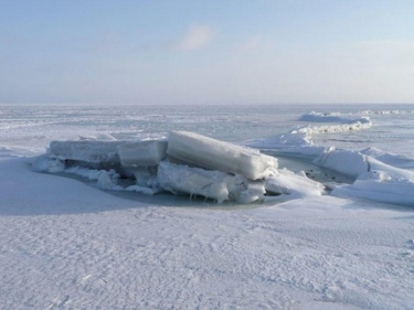
[{"label": "short blocky ice slab between the left flat slab and the top tilted slab", "polygon": [[157,165],[167,157],[167,141],[147,140],[117,146],[120,163],[124,167]]}]

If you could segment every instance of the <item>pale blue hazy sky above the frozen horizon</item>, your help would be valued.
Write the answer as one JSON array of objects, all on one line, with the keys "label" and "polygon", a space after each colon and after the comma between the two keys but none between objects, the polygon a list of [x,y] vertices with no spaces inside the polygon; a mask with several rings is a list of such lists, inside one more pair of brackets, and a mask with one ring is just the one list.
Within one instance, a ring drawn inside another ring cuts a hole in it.
[{"label": "pale blue hazy sky above the frozen horizon", "polygon": [[413,12],[412,0],[0,0],[0,103],[414,103]]}]

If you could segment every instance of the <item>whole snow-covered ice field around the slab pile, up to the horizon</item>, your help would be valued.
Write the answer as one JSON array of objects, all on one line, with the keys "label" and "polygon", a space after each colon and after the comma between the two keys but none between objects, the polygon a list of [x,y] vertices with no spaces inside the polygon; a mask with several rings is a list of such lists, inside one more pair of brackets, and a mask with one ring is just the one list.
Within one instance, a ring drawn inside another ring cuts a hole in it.
[{"label": "whole snow-covered ice field around the slab pile, up to the horizon", "polygon": [[[36,172],[51,141],[172,130],[278,158],[280,194]],[[414,106],[0,106],[0,309],[414,309]]]}]

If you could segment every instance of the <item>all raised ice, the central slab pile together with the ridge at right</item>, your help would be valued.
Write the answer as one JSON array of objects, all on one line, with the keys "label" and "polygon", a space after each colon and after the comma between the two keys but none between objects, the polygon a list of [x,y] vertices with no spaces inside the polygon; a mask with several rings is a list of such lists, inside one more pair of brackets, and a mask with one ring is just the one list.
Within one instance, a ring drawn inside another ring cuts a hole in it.
[{"label": "all raised ice, the central slab pile together with the ridge at right", "polygon": [[315,135],[369,128],[370,118],[310,113],[300,120],[325,124],[296,127],[279,137],[262,139],[255,147],[276,149],[273,153],[285,157],[306,158],[323,174],[315,170],[305,173],[278,169],[277,159],[258,149],[188,131],[171,131],[166,140],[54,141],[45,160],[36,162],[36,169],[81,175],[95,180],[105,190],[146,194],[167,191],[217,202],[286,201],[330,193],[412,204],[414,172],[410,169],[414,169],[414,161],[411,158],[374,148],[351,151],[314,145]]}]

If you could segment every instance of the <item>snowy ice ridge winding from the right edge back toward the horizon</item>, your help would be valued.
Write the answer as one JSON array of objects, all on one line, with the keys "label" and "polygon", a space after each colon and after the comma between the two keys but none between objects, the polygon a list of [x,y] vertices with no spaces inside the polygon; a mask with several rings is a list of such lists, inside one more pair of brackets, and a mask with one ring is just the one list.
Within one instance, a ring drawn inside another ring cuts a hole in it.
[{"label": "snowy ice ridge winding from the right edge back toward the horizon", "polygon": [[[373,113],[365,111],[364,114]],[[267,150],[273,149],[279,154],[308,158],[318,167],[354,180],[351,184],[326,183],[332,190],[332,195],[414,206],[414,171],[411,171],[414,170],[414,159],[386,153],[375,148],[351,151],[317,146],[312,141],[315,135],[322,132],[370,128],[372,124],[368,117],[309,113],[301,116],[300,120],[332,124],[297,127],[279,137],[258,140],[253,146]]]}]

